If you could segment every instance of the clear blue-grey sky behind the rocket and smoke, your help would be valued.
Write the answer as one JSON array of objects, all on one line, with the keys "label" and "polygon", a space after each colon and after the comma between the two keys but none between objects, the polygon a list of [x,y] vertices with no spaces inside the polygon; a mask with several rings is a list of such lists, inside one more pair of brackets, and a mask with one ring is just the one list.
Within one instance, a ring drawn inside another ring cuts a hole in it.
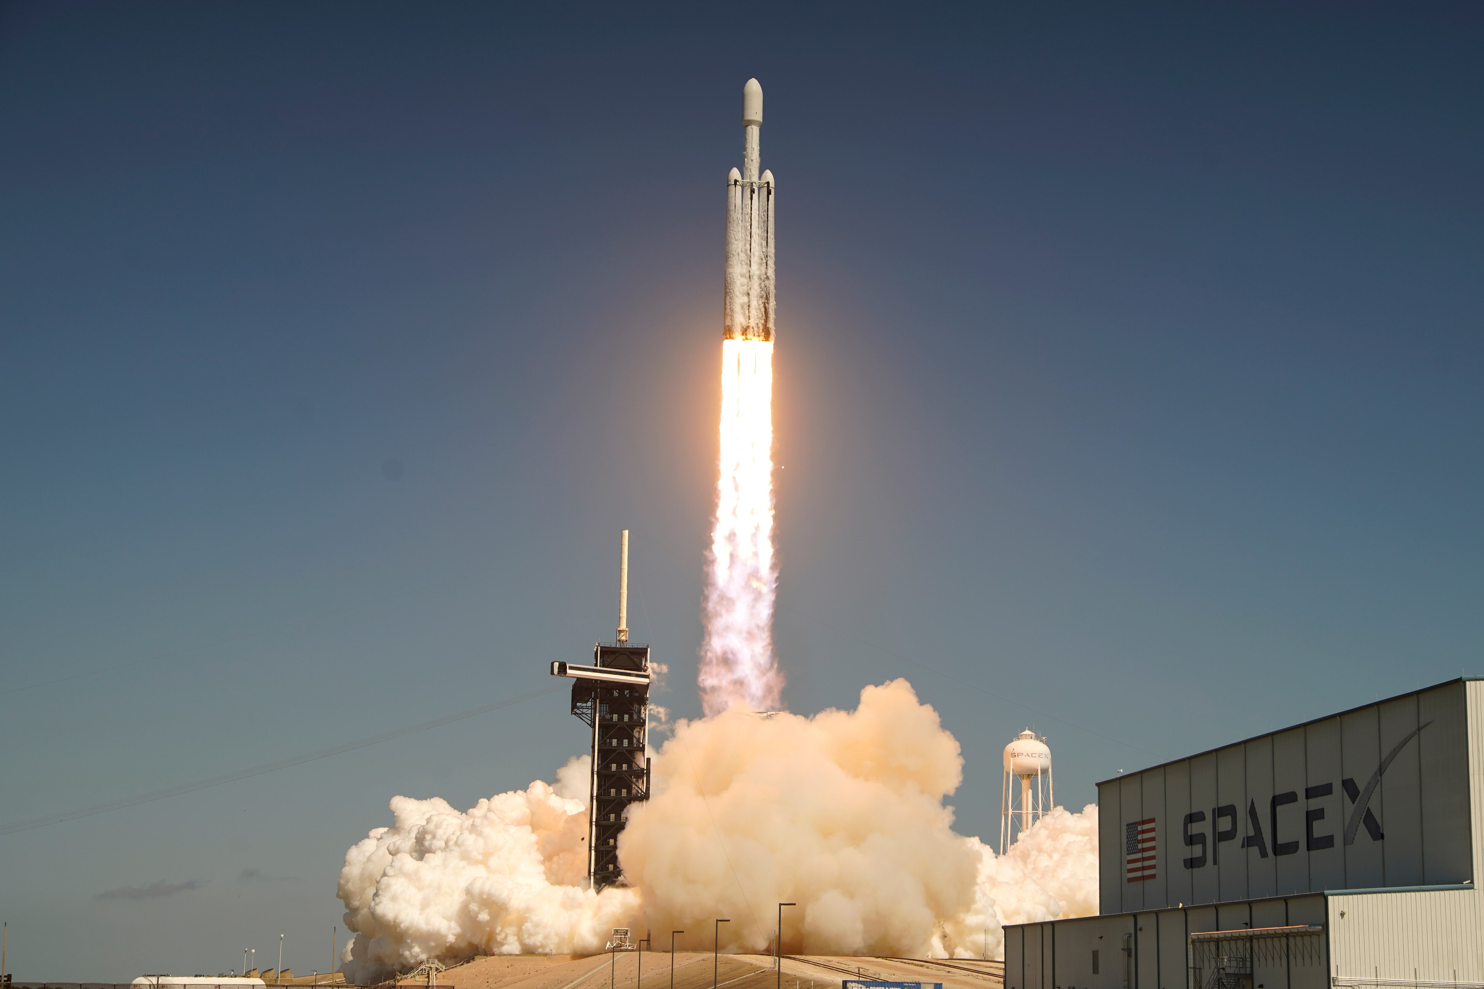
[{"label": "clear blue-grey sky behind the rocket and smoke", "polygon": [[[907,676],[988,836],[1027,725],[1080,807],[1484,673],[1481,7],[974,10],[0,7],[0,827],[545,688],[625,526],[699,713],[749,76],[792,710]],[[0,835],[10,970],[324,970],[390,796],[583,744]]]}]

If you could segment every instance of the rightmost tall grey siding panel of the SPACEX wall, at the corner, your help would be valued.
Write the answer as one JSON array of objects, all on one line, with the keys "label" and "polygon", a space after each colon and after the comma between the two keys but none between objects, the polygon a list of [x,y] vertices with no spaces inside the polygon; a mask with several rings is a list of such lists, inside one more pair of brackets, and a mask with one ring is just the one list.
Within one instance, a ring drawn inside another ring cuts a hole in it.
[{"label": "rightmost tall grey siding panel of the SPACEX wall, at the corner", "polygon": [[1469,716],[1472,684],[1448,684],[1417,698],[1422,773],[1422,875],[1429,885],[1474,878],[1469,833]]}]

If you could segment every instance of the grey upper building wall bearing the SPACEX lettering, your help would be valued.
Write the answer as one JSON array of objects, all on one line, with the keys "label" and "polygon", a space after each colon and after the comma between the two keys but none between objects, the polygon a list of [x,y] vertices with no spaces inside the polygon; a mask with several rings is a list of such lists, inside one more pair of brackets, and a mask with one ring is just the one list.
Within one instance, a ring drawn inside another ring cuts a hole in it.
[{"label": "grey upper building wall bearing the SPACEX lettering", "polygon": [[[1472,879],[1481,689],[1444,684],[1100,783],[1101,912]],[[1155,875],[1131,867],[1149,853],[1128,851],[1129,826],[1158,835]]]}]

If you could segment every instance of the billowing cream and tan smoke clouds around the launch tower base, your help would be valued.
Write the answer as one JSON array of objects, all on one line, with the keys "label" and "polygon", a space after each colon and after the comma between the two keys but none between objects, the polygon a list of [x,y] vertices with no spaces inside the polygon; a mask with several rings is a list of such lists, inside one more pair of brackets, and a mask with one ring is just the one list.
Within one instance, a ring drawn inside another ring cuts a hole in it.
[{"label": "billowing cream and tan smoke clouds around the launch tower base", "polygon": [[[681,721],[654,756],[619,857],[632,888],[583,888],[586,759],[556,786],[479,801],[392,801],[395,824],[346,854],[365,983],[426,958],[597,952],[613,927],[705,930],[723,950],[1002,956],[1006,922],[1097,910],[1097,807],[1057,810],[999,857],[953,830],[959,743],[905,681],[812,718],[735,707]],[[665,927],[665,925],[669,927]]]}]

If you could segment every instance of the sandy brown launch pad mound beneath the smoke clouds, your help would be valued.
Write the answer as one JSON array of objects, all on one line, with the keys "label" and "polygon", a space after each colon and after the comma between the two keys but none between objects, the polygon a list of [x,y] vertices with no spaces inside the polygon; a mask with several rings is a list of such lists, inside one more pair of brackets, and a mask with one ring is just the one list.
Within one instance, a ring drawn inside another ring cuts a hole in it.
[{"label": "sandy brown launch pad mound beneath the smoke clouds", "polygon": [[[711,952],[675,952],[675,989],[711,989]],[[438,974],[439,989],[669,989],[669,952],[591,955],[485,955]],[[638,979],[641,976],[643,979]],[[721,955],[717,989],[773,989],[772,955]],[[1003,965],[978,959],[785,955],[784,989],[833,989],[843,979],[941,982],[944,989],[1002,989]],[[402,989],[426,986],[405,980]]]}]

